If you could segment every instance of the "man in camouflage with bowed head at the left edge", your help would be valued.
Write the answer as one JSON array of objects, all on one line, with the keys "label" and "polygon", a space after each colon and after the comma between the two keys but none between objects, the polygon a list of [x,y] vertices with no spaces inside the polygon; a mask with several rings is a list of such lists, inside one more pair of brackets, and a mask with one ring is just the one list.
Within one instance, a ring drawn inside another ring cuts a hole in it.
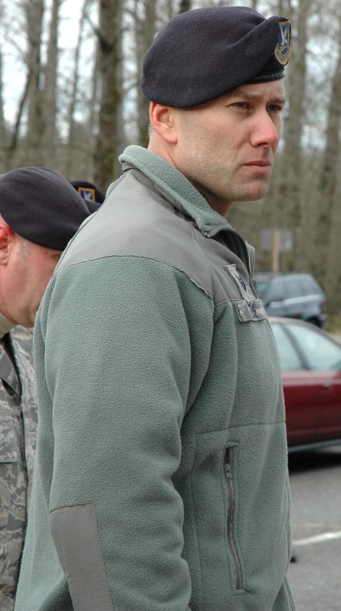
[{"label": "man in camouflage with bowed head at the left edge", "polygon": [[90,211],[66,178],[42,167],[0,176],[0,609],[14,608],[32,488],[34,373],[10,329],[32,327],[60,255]]}]

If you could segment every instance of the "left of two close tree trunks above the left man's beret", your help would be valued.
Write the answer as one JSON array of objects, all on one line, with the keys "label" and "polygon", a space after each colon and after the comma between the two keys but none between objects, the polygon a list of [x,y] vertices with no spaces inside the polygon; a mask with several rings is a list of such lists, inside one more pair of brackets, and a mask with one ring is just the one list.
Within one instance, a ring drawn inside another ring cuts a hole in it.
[{"label": "left of two close tree trunks above the left man's beret", "polygon": [[45,117],[41,100],[41,27],[44,12],[44,0],[27,0],[24,5],[27,21],[27,67],[31,78],[27,92],[27,136],[25,163],[32,166],[42,166],[44,155],[41,150],[41,140],[45,131]]}]

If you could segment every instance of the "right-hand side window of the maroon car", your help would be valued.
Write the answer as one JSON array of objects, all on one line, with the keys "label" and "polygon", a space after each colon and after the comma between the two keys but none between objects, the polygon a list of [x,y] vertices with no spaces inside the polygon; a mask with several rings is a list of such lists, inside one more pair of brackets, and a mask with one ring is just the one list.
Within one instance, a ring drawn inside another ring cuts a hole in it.
[{"label": "right-hand side window of the maroon car", "polygon": [[310,368],[323,371],[341,370],[341,346],[303,325],[287,324],[286,327],[300,345]]}]

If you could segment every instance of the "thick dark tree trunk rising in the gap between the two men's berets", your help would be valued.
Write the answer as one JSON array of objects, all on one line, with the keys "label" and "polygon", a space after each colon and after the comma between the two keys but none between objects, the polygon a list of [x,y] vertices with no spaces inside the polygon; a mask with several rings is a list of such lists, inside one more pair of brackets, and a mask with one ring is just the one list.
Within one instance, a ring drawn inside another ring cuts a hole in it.
[{"label": "thick dark tree trunk rising in the gap between the two men's berets", "polygon": [[122,95],[120,0],[100,0],[98,39],[101,106],[94,178],[98,188],[105,192],[115,178],[115,160],[119,152],[118,120]]}]

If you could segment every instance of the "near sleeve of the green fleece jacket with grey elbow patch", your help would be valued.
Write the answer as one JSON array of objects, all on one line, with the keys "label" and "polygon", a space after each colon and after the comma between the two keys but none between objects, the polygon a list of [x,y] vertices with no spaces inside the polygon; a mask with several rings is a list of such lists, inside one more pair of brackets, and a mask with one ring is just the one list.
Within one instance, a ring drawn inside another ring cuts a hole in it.
[{"label": "near sleeve of the green fleece jacket with grey elbow patch", "polygon": [[172,476],[191,337],[212,318],[209,301],[170,266],[113,257],[60,270],[43,302],[36,366],[53,406],[45,495],[76,611],[189,609]]}]

